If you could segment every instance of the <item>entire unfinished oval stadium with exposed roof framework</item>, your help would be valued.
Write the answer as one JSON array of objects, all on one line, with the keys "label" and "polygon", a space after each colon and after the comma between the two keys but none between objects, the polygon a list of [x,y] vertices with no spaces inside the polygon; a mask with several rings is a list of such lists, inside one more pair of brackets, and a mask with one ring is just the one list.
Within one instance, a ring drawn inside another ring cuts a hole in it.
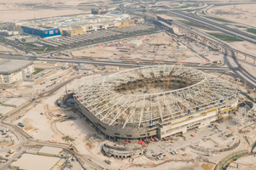
[{"label": "entire unfinished oval stadium with exposed roof framework", "polygon": [[132,141],[205,127],[230,116],[238,99],[236,87],[218,77],[184,66],[155,65],[84,82],[74,101],[106,138]]}]

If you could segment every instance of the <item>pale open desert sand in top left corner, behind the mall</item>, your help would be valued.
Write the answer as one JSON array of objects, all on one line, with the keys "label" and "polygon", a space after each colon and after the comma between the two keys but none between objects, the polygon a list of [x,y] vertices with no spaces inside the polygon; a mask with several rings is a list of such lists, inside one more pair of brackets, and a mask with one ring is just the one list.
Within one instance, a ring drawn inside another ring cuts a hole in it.
[{"label": "pale open desert sand in top left corner, behind the mall", "polygon": [[[102,1],[101,4],[107,1]],[[15,22],[52,16],[81,14],[80,3],[90,0],[0,0],[0,22]],[[94,5],[99,5],[93,3]]]}]

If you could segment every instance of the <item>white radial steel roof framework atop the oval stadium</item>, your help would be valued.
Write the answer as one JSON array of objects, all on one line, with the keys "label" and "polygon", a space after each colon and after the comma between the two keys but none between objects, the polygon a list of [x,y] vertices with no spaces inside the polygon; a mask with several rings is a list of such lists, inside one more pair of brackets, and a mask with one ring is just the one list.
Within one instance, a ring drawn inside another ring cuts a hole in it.
[{"label": "white radial steel roof framework atop the oval stadium", "polygon": [[155,65],[120,71],[84,82],[74,95],[109,126],[144,127],[177,122],[236,98],[230,82],[179,65]]}]

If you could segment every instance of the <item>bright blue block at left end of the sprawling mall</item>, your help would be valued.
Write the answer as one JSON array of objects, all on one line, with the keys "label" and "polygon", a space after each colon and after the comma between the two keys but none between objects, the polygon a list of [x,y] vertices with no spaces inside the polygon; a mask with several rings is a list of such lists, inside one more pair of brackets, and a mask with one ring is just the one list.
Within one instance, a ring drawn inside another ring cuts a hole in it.
[{"label": "bright blue block at left end of the sprawling mall", "polygon": [[61,31],[59,28],[52,28],[52,27],[38,27],[38,28],[32,28],[27,26],[21,26],[22,30],[28,34],[40,36],[43,38],[46,37],[55,37],[55,36],[61,36]]}]

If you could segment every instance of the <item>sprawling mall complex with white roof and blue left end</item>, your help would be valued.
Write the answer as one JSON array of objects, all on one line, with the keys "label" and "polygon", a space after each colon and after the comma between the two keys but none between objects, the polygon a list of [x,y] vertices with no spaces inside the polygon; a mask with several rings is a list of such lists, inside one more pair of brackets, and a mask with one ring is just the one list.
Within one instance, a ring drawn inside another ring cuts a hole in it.
[{"label": "sprawling mall complex with white roof and blue left end", "polygon": [[85,32],[107,30],[108,28],[134,26],[135,20],[128,14],[104,15],[78,14],[60,16],[41,20],[26,20],[15,24],[20,30],[38,37],[74,36]]}]

